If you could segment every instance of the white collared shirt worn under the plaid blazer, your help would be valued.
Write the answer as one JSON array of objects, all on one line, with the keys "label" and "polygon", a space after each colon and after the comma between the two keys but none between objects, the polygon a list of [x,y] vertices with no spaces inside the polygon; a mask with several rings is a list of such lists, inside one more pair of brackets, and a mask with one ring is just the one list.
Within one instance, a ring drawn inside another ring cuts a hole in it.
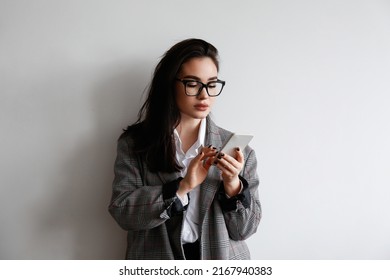
[{"label": "white collared shirt worn under the plaid blazer", "polygon": [[[202,147],[206,137],[206,118],[202,119],[198,132],[198,140],[188,149],[186,153],[183,152],[182,142],[180,140],[179,133],[174,130],[174,138],[176,145],[176,160],[183,167],[181,170],[181,176],[184,177],[187,174],[188,166],[191,160],[196,157]],[[187,213],[184,218],[184,224],[182,229],[182,242],[193,243],[199,238],[199,194],[200,187],[196,186],[191,192],[189,192],[190,203],[188,197],[179,197],[183,206],[188,205]]]}]

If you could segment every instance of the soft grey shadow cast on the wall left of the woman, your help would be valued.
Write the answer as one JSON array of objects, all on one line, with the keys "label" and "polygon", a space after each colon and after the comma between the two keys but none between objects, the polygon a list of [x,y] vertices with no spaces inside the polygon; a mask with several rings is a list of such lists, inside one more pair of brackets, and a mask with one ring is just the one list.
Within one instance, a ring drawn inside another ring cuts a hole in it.
[{"label": "soft grey shadow cast on the wall left of the woman", "polygon": [[60,191],[45,207],[40,231],[52,239],[52,258],[124,259],[126,232],[107,207],[116,141],[122,129],[136,120],[150,78],[140,65],[104,69],[102,82],[90,93],[93,133],[77,141],[61,162],[58,176],[50,177],[56,178],[52,184]]}]

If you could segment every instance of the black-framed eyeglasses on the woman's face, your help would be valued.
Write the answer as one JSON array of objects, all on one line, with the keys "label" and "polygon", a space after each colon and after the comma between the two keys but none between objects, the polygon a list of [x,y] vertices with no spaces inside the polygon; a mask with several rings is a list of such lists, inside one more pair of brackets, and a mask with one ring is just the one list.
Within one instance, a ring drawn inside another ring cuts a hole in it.
[{"label": "black-framed eyeglasses on the woman's face", "polygon": [[215,97],[221,94],[222,89],[225,86],[225,81],[221,80],[211,81],[207,84],[197,80],[176,80],[183,83],[185,93],[188,96],[198,96],[202,92],[203,88],[206,88],[207,94],[211,97]]}]

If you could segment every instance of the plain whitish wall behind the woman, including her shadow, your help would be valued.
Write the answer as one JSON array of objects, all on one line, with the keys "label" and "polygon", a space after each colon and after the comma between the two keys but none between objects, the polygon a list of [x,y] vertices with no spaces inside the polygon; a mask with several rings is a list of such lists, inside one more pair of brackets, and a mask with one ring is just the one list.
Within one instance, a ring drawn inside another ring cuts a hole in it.
[{"label": "plain whitish wall behind the woman, including her shadow", "polygon": [[254,259],[390,258],[390,4],[0,1],[0,258],[121,259],[116,138],[174,43],[220,50],[214,118],[255,135]]}]

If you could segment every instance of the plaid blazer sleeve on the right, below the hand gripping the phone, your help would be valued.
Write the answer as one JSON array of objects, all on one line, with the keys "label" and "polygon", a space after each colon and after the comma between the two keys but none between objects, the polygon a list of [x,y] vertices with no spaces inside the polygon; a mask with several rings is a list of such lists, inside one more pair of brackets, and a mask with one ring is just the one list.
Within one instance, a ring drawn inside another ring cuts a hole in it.
[{"label": "plaid blazer sleeve on the right, below the hand gripping the phone", "polygon": [[[258,194],[259,177],[257,174],[257,160],[255,151],[249,150],[244,168],[241,172],[241,181],[244,185],[244,191],[238,197],[230,198],[234,201],[236,207],[226,207],[225,203],[223,213],[229,236],[233,240],[245,240],[257,231],[260,223],[262,211]],[[230,203],[232,205],[232,203]]]}]

